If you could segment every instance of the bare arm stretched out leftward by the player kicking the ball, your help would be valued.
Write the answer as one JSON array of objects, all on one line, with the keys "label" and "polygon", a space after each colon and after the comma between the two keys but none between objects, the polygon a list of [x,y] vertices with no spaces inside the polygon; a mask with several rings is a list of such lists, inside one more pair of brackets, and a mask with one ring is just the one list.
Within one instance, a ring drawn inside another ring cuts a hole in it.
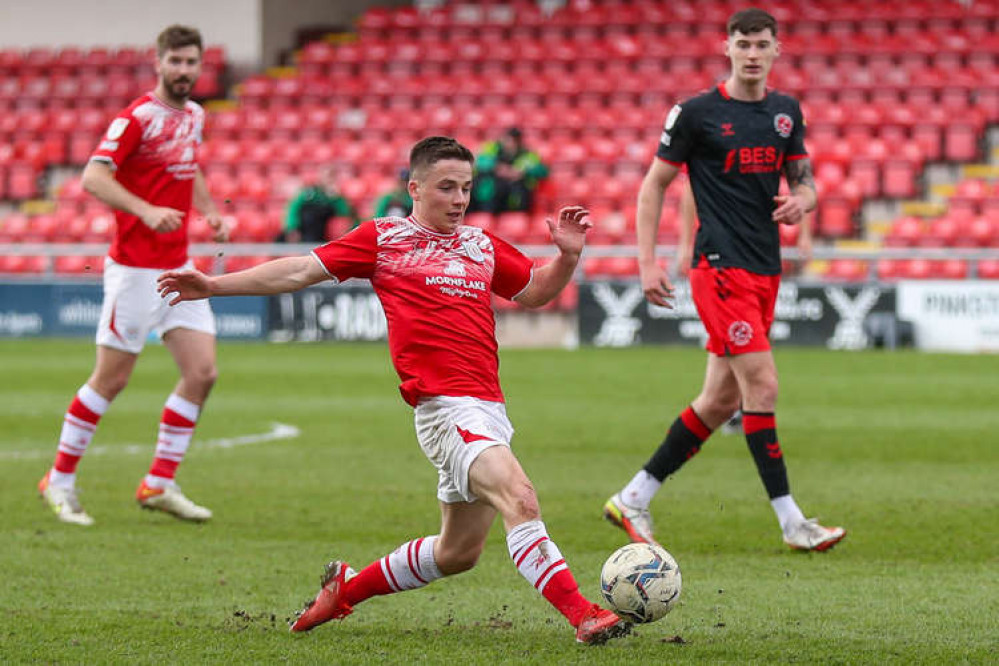
[{"label": "bare arm stretched out leftward by the player kicking the ball", "polygon": [[167,271],[157,279],[160,296],[170,305],[196,301],[209,296],[265,296],[298,291],[328,280],[329,275],[311,255],[282,257],[225,275],[205,275],[199,271]]}]

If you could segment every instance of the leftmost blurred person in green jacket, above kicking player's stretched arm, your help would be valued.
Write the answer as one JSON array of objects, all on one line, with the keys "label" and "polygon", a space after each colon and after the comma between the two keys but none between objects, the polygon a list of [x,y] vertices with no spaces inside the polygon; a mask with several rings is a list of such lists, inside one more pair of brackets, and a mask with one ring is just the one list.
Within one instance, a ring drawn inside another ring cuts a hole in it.
[{"label": "leftmost blurred person in green jacket, above kicking player's stretched arm", "polygon": [[327,165],[319,172],[315,183],[306,185],[288,203],[284,231],[278,242],[325,243],[326,225],[330,218],[345,217],[351,228],[357,226],[357,213],[350,202],[340,194],[337,185],[339,174],[334,165]]}]

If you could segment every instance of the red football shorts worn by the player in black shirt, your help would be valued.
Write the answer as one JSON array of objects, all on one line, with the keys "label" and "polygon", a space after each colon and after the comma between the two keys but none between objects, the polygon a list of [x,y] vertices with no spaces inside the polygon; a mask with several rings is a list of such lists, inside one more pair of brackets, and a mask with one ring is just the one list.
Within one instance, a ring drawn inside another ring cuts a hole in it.
[{"label": "red football shorts worn by the player in black shirt", "polygon": [[707,265],[691,269],[690,291],[708,331],[708,352],[734,356],[768,351],[779,287],[780,275]]}]

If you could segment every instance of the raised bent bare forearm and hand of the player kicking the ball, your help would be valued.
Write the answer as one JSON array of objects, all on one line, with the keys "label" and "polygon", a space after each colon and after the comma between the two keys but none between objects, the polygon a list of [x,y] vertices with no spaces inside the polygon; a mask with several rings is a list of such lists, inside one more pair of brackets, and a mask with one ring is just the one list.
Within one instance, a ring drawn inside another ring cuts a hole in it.
[{"label": "raised bent bare forearm and hand of the player kicking the ball", "polygon": [[582,206],[566,206],[559,211],[558,221],[545,220],[559,253],[534,270],[531,284],[517,296],[518,303],[529,308],[541,307],[569,284],[586,244],[586,232],[593,226],[589,215],[590,211]]}]

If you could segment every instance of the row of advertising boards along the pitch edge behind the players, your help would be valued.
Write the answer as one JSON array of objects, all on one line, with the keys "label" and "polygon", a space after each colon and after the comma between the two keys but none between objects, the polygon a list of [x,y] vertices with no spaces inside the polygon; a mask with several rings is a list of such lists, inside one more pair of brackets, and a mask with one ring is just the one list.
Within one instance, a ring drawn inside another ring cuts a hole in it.
[{"label": "row of advertising boards along the pitch edge behind the players", "polygon": [[[579,283],[578,316],[497,314],[503,346],[703,346],[704,326],[689,285],[675,285],[675,307],[645,302],[627,280]],[[0,282],[0,338],[93,336],[101,310],[94,282]],[[273,342],[384,340],[385,315],[371,286],[317,285],[278,296],[212,299],[219,337]],[[771,340],[855,350],[910,346],[927,351],[999,352],[999,282],[781,284]]]}]

